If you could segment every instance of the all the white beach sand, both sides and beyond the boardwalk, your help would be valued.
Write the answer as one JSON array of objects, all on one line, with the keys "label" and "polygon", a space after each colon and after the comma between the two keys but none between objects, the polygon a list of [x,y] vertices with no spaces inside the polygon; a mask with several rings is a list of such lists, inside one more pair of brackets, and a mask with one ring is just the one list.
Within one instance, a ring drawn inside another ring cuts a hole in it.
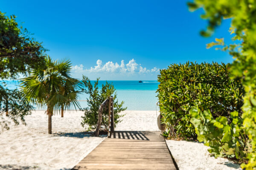
[{"label": "all the white beach sand, both sides and beyond the boardwalk", "polygon": [[[52,134],[47,133],[47,115],[34,111],[26,116],[27,126],[11,126],[0,134],[0,170],[69,170],[87,156],[105,136],[91,137],[81,127],[81,111],[67,111],[64,118],[52,117]],[[116,130],[157,131],[156,111],[124,111]],[[180,170],[235,170],[227,159],[209,156],[197,142],[167,140]]]}]

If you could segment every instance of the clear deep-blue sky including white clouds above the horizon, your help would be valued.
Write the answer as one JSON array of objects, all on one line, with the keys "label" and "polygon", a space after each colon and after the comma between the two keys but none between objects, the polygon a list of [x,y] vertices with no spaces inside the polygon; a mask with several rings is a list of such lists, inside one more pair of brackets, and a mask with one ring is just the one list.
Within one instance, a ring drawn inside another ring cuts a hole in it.
[{"label": "clear deep-blue sky including white clouds above the horizon", "polygon": [[6,0],[0,11],[15,14],[54,59],[70,59],[73,76],[102,80],[156,80],[158,69],[186,61],[232,62],[206,49],[214,37],[230,39],[230,20],[211,38],[203,11],[189,12],[187,0]]}]

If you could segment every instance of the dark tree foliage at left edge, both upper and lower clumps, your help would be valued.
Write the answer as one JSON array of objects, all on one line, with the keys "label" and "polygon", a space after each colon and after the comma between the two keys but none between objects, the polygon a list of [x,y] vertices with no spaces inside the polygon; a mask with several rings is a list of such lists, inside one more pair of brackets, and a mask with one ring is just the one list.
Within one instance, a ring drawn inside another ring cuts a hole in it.
[{"label": "dark tree foliage at left edge, both upper and lower clumps", "polygon": [[[34,40],[26,28],[20,26],[15,15],[0,12],[0,79],[17,79],[32,68],[44,64],[45,48]],[[9,90],[0,84],[0,125],[9,128],[9,120],[15,125],[31,113],[32,106],[19,90]],[[3,114],[9,117],[5,119]],[[19,121],[20,120],[20,121]]]}]

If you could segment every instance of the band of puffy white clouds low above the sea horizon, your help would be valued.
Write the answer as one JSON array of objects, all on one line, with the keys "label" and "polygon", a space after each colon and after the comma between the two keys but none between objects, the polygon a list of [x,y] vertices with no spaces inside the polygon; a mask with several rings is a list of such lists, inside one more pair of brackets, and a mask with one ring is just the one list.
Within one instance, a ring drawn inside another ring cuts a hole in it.
[{"label": "band of puffy white clouds low above the sea horizon", "polygon": [[131,59],[127,64],[125,64],[124,60],[121,61],[121,64],[119,65],[117,62],[114,63],[112,61],[106,62],[104,65],[102,65],[102,60],[98,59],[96,62],[96,65],[94,67],[90,67],[88,69],[84,69],[84,66],[82,64],[75,65],[72,68],[73,72],[75,73],[139,73],[139,74],[148,74],[148,73],[157,73],[159,71],[159,68],[143,68],[141,64],[138,64],[134,59]]}]

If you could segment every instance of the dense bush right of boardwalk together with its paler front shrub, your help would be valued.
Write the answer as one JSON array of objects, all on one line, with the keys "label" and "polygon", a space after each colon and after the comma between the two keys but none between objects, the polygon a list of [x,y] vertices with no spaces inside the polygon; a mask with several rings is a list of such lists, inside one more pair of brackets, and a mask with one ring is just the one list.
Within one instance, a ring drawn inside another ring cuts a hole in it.
[{"label": "dense bush right of boardwalk together with its paler front shrub", "polygon": [[247,163],[248,136],[242,128],[242,79],[231,79],[230,64],[172,64],[160,71],[158,98],[163,135],[198,140],[218,157]]}]

